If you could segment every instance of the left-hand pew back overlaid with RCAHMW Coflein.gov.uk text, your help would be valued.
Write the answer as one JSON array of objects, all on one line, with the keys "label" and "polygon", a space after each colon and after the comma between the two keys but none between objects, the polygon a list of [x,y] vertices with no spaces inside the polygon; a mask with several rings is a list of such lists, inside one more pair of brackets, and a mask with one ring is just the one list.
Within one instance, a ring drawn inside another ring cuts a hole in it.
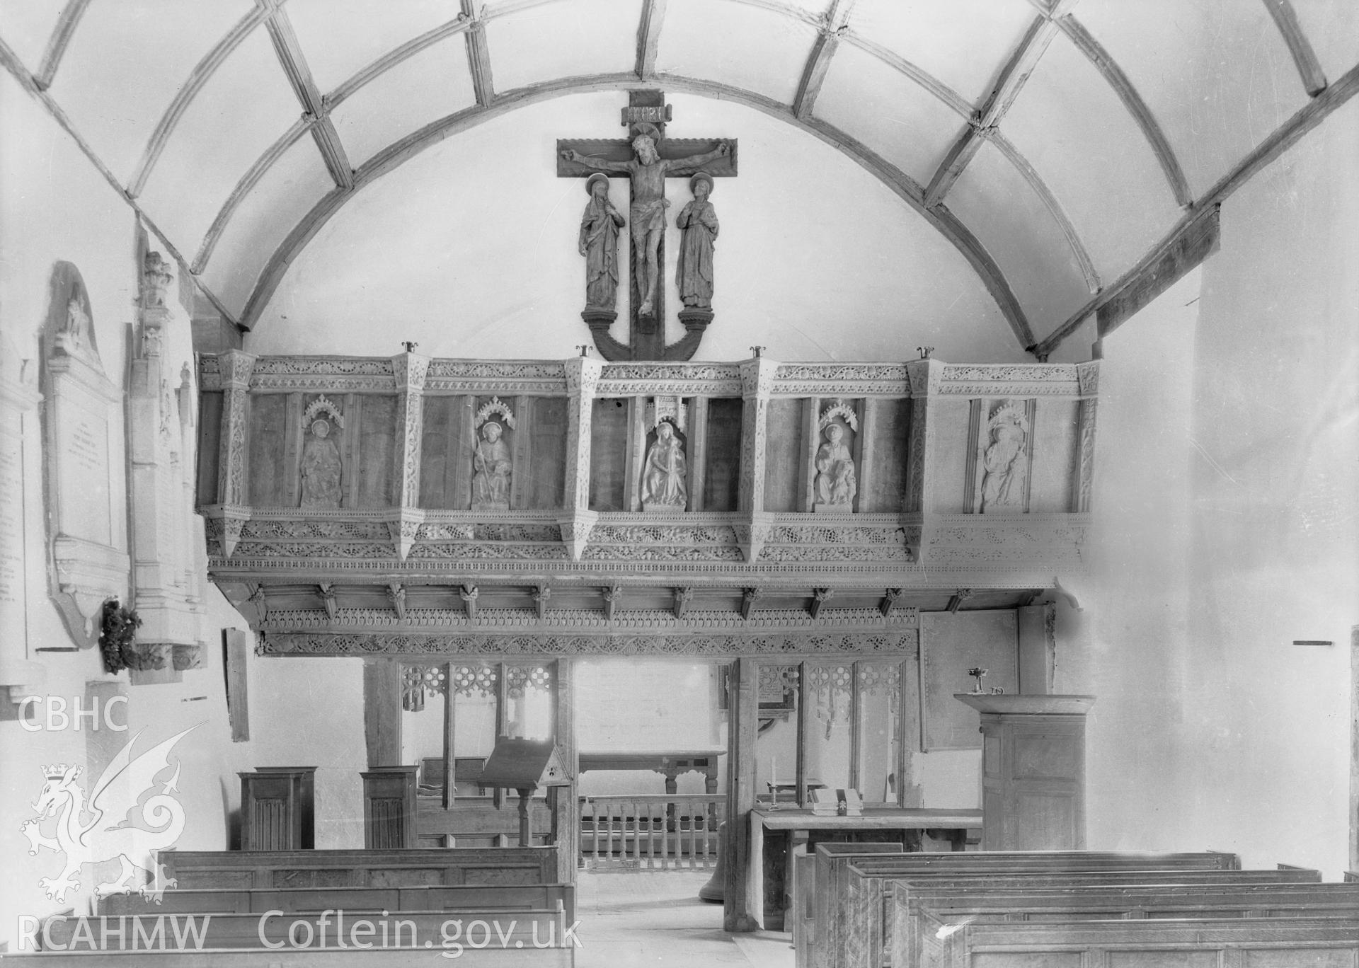
[{"label": "left-hand pew back overlaid with RCAHMW Coflein.gov.uk text", "polygon": [[[476,927],[473,927],[476,926]],[[251,949],[276,953],[299,948],[329,949],[412,948],[442,952],[446,945],[482,945],[511,949],[534,949],[549,938],[560,944],[567,929],[565,914],[559,908],[466,911],[323,911],[319,914],[145,914],[118,918],[56,919],[41,935],[43,948],[52,950],[107,950],[110,946],[129,954],[145,954],[160,948],[170,950]],[[114,931],[122,934],[114,937]],[[469,937],[470,930],[470,937]],[[88,938],[88,941],[86,941]],[[110,945],[111,942],[111,945]],[[453,950],[453,949],[450,949]],[[276,956],[277,957],[277,956]],[[338,957],[338,956],[337,956]],[[427,958],[432,957],[427,954]],[[432,961],[431,961],[432,964]]]}]

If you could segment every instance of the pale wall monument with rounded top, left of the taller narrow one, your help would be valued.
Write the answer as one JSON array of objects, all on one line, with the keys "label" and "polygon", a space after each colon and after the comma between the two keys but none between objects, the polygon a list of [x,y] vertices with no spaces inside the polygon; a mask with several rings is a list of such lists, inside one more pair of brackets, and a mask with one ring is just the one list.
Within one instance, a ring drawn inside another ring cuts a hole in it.
[{"label": "pale wall monument with rounded top, left of the taller narrow one", "polygon": [[122,392],[105,374],[90,296],[69,262],[53,269],[42,363],[49,593],[88,649],[105,600],[128,594]]}]

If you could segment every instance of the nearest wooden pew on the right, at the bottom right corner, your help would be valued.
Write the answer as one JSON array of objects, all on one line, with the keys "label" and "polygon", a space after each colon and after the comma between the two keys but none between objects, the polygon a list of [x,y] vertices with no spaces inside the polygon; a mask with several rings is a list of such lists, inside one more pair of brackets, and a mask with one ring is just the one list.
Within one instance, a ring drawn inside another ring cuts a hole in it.
[{"label": "nearest wooden pew on the right, at the bottom right corner", "polygon": [[1252,965],[1328,968],[1359,960],[1359,919],[1234,918],[965,924],[946,938],[949,968]]}]

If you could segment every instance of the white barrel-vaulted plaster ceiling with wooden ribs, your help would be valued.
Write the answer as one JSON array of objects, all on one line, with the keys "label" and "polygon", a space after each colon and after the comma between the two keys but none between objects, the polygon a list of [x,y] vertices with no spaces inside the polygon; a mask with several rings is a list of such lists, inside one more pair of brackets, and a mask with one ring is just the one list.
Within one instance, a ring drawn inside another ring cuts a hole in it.
[{"label": "white barrel-vaulted plaster ceiling with wooden ribs", "polygon": [[0,60],[243,328],[423,147],[659,87],[843,151],[1042,355],[1354,92],[1359,4],[0,0]]}]

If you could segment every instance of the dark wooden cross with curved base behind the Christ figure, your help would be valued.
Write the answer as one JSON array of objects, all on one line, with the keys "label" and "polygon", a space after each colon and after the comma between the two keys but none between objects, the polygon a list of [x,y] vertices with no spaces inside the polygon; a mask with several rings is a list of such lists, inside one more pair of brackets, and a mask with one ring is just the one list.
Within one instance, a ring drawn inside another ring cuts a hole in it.
[{"label": "dark wooden cross with curved base behind the Christ figure", "polygon": [[[689,178],[704,171],[716,178],[737,174],[737,143],[722,139],[666,139],[670,105],[662,91],[631,91],[622,109],[626,139],[564,139],[557,141],[557,177],[584,178],[603,173],[610,178],[628,178],[632,198],[628,207],[631,299],[631,343],[609,336],[617,317],[607,309],[586,307],[582,318],[590,326],[599,355],[606,360],[690,359],[712,321],[708,309],[686,309],[680,314],[688,330],[685,337],[666,345],[665,336],[665,227],[674,222],[660,200],[666,178]],[[655,148],[655,159],[639,152],[639,137],[646,136]],[[650,291],[648,291],[650,290]]]}]

